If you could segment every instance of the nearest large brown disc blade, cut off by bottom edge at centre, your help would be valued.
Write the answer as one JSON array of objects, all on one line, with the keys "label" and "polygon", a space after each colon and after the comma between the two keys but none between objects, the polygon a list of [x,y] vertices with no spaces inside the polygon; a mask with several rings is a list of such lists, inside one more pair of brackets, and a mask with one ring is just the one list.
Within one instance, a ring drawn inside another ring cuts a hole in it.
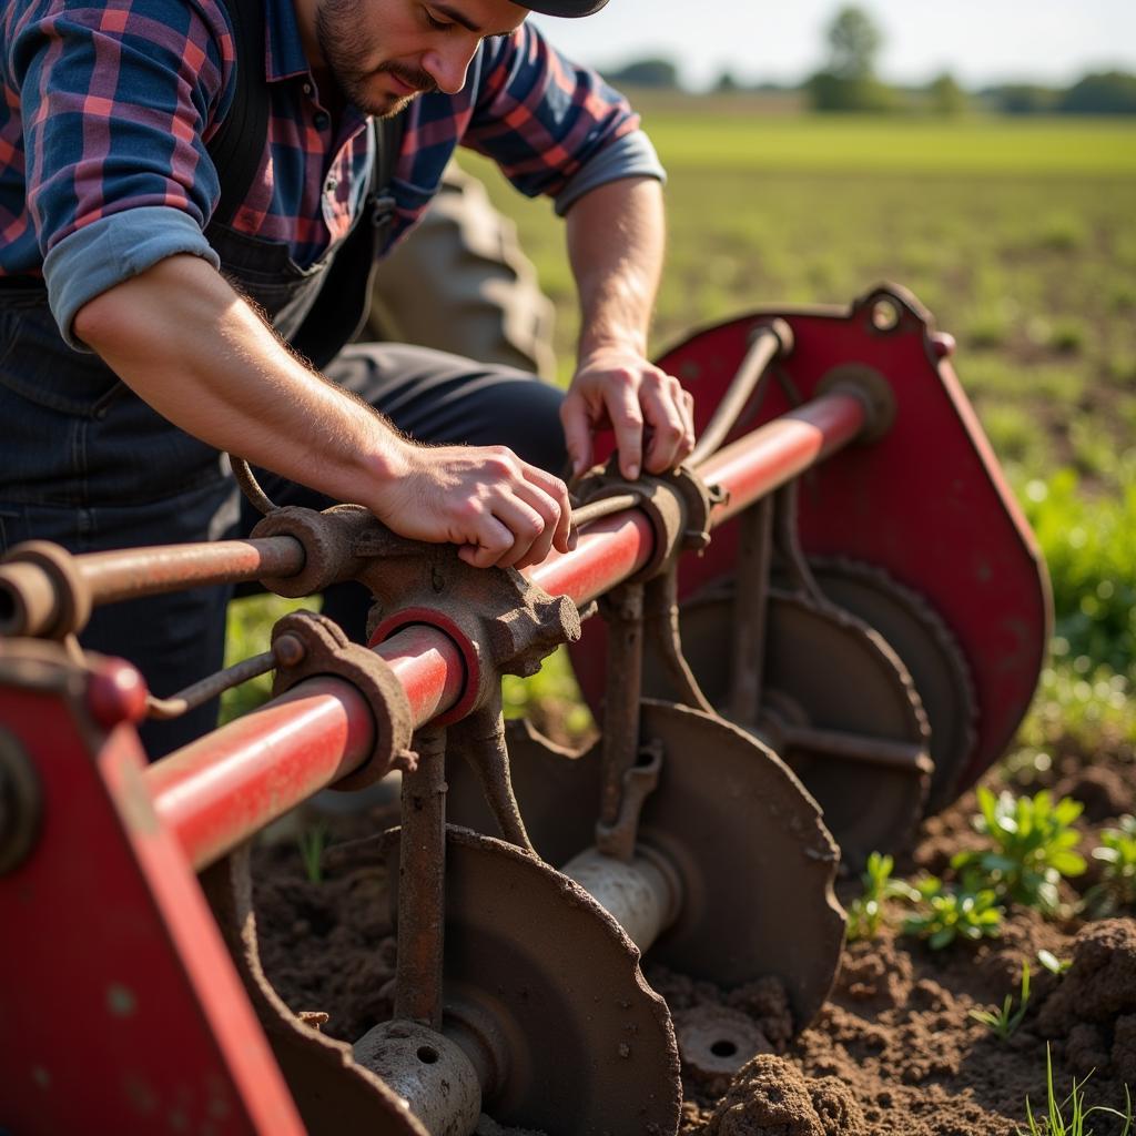
[{"label": "nearest large brown disc blade, cut off by bottom edge at centre", "polygon": [[[399,837],[386,835],[392,879]],[[675,1131],[670,1013],[615,919],[511,844],[449,826],[445,854],[446,1009],[492,1017],[508,1039],[485,1112],[548,1136]]]}]

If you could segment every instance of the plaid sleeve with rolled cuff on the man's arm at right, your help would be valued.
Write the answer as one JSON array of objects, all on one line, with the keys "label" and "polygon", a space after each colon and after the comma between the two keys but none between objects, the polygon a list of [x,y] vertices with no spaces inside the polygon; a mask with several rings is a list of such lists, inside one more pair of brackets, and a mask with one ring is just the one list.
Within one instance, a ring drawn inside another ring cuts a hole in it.
[{"label": "plaid sleeve with rolled cuff on the man's arm at right", "polygon": [[482,82],[463,144],[492,158],[521,193],[556,199],[620,177],[665,174],[627,100],[561,56],[534,27],[484,44]]}]

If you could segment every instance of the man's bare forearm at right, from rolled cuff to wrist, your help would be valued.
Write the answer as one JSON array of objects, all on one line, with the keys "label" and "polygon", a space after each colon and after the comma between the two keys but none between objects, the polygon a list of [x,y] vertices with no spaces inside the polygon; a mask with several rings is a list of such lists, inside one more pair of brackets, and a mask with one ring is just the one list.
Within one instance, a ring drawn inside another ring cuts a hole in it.
[{"label": "man's bare forearm at right, from rolled cuff to wrist", "polygon": [[646,354],[666,245],[662,189],[654,178],[608,182],[567,216],[579,292],[579,358],[623,348]]}]

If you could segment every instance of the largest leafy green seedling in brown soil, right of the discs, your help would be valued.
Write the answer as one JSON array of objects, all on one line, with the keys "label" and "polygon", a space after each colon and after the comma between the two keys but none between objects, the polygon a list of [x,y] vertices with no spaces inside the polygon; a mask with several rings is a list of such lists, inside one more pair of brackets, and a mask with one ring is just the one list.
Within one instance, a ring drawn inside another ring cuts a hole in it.
[{"label": "largest leafy green seedling in brown soil, right of the discs", "polygon": [[1002,901],[1055,913],[1058,883],[1087,867],[1074,851],[1080,836],[1071,827],[1084,807],[1070,797],[1054,803],[1045,790],[1014,797],[1004,791],[995,796],[985,787],[978,790],[978,807],[975,828],[991,838],[993,847],[960,852],[951,861],[967,888],[989,889]]}]

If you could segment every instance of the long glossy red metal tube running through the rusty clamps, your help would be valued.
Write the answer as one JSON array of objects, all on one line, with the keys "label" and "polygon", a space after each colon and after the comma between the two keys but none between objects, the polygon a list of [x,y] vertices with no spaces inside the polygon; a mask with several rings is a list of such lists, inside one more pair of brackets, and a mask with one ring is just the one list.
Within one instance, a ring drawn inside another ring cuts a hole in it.
[{"label": "long glossy red metal tube running through the rusty clamps", "polygon": [[[854,395],[827,394],[707,459],[700,473],[730,498],[711,523],[721,524],[846,445],[864,414]],[[528,576],[552,595],[586,603],[642,568],[653,543],[648,518],[629,510],[590,525],[574,551],[549,557]],[[417,725],[461,696],[461,654],[436,628],[409,627],[376,650],[394,668]],[[202,868],[358,768],[371,744],[370,711],[354,688],[339,679],[309,679],[151,766],[147,780],[158,815]]]}]

